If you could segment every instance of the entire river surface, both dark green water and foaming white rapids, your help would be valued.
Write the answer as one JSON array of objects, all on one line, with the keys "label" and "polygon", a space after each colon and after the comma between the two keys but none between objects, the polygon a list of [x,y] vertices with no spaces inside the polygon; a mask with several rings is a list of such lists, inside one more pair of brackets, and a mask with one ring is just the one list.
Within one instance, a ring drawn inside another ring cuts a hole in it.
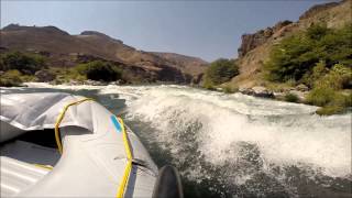
[{"label": "entire river surface, both dark green water and foaming white rapids", "polygon": [[187,86],[48,86],[92,97],[140,136],[162,167],[176,166],[186,197],[351,197],[351,113]]}]

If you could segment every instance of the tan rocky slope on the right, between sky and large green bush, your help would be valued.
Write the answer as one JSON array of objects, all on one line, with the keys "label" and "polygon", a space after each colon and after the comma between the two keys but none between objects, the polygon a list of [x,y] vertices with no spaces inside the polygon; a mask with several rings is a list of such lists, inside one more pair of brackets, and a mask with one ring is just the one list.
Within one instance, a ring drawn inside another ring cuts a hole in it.
[{"label": "tan rocky slope on the right, between sky and large green bush", "polygon": [[268,58],[272,46],[283,38],[318,23],[324,23],[328,28],[333,29],[351,24],[352,1],[318,4],[301,14],[296,22],[282,21],[272,28],[260,30],[253,34],[244,34],[237,61],[240,75],[231,80],[231,85],[240,88],[261,86],[263,82],[262,67]]}]

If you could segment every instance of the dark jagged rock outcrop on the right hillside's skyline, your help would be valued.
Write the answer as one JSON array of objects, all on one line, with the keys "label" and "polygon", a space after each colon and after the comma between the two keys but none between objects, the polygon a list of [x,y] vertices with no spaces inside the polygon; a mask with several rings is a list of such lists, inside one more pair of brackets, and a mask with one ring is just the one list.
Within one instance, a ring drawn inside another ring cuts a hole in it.
[{"label": "dark jagged rock outcrop on the right hillside's skyline", "polygon": [[260,30],[254,34],[243,34],[242,44],[238,50],[239,57],[243,57],[253,48],[264,44],[272,35],[280,31],[284,26],[293,23],[292,21],[280,21],[276,23],[273,28],[266,28],[265,30]]}]

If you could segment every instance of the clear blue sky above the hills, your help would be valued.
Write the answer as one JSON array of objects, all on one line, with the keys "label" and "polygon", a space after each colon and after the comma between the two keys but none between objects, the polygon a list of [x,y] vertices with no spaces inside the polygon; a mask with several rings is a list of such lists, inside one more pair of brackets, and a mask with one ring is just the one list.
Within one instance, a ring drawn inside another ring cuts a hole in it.
[{"label": "clear blue sky above the hills", "polygon": [[143,51],[206,61],[237,57],[243,33],[298,20],[314,4],[292,1],[1,1],[1,28],[54,25],[70,34],[106,33]]}]

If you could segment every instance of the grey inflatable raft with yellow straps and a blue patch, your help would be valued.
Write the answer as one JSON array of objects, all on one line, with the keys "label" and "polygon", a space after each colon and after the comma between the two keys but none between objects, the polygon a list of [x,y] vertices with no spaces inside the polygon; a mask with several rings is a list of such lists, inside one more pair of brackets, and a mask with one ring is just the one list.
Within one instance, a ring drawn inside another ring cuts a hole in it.
[{"label": "grey inflatable raft with yellow straps and a blue patch", "polygon": [[1,197],[183,197],[138,136],[98,102],[1,95]]}]

